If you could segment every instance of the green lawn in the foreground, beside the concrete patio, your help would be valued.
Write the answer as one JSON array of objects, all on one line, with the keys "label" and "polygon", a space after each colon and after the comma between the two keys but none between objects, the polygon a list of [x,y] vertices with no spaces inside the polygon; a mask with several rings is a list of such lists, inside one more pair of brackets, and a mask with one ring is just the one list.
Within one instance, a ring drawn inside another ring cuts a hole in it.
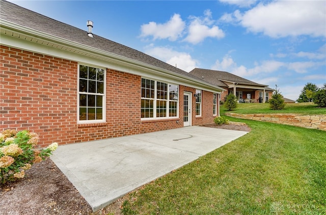
[{"label": "green lawn in the foreground, beside the concrete patio", "polygon": [[232,120],[252,131],[130,193],[123,214],[326,214],[326,132]]}]

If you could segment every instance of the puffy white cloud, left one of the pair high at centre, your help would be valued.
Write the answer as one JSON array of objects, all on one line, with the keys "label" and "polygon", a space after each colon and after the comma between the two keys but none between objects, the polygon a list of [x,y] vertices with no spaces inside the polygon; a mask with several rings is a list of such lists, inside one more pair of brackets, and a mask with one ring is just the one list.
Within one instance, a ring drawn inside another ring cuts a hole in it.
[{"label": "puffy white cloud, left one of the pair high at centre", "polygon": [[174,14],[169,21],[160,24],[149,22],[141,26],[141,37],[153,36],[153,39],[169,39],[175,41],[182,36],[185,22],[179,14]]}]

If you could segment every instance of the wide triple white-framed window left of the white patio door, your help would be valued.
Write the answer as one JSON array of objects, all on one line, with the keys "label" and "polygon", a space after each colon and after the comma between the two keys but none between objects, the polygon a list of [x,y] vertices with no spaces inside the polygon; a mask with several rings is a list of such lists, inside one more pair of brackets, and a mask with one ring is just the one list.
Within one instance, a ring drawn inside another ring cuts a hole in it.
[{"label": "wide triple white-framed window left of the white patio door", "polygon": [[142,78],[141,118],[179,116],[179,85]]}]

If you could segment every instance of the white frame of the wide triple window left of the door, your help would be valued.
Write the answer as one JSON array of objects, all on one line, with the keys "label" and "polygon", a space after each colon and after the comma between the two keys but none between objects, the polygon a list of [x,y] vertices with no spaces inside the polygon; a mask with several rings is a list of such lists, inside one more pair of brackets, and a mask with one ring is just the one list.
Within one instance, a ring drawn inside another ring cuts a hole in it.
[{"label": "white frame of the wide triple window left of the door", "polygon": [[[156,80],[156,79],[153,79],[153,78],[142,77],[142,79],[143,78],[154,81],[154,99],[141,97],[141,100],[142,99],[153,100],[153,117],[141,118],[141,120],[142,121],[146,121],[146,120],[153,120],[153,119],[158,120],[158,119],[174,119],[174,118],[179,118],[180,85],[179,84],[172,83],[172,82]],[[167,91],[168,99],[167,100],[157,99],[157,82],[162,82],[162,83],[168,84],[168,91]],[[169,85],[177,85],[178,86],[178,100],[177,101],[176,100],[170,100],[170,88],[169,88]],[[142,86],[141,86],[141,89],[142,89]],[[169,102],[177,102],[177,116],[157,117],[156,116],[156,107],[157,107],[156,106],[156,101],[166,101],[167,102],[167,115],[169,115],[169,113],[170,113],[170,104],[169,104]]]}]

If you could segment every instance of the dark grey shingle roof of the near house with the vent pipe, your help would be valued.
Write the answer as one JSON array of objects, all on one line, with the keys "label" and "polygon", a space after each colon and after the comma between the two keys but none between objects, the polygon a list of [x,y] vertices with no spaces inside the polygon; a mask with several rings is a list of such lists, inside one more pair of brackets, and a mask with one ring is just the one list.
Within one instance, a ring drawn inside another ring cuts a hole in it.
[{"label": "dark grey shingle roof of the near house with the vent pipe", "polygon": [[[181,69],[178,69],[172,65],[169,65],[161,60],[158,60],[150,55],[147,55],[141,51],[132,49],[130,47],[124,46],[122,44],[116,43],[111,40],[107,40],[97,35],[93,35],[94,38],[91,38],[87,35],[85,30],[79,29],[72,25],[51,19],[39,13],[33,12],[31,10],[22,8],[10,2],[1,1],[1,11],[0,18],[25,26],[40,32],[60,37],[69,41],[73,41],[79,44],[87,45],[93,48],[97,48],[106,52],[111,52],[124,56],[139,62],[155,66],[161,69],[165,69],[174,73],[177,73],[182,76],[186,76],[191,79],[204,80],[189,74]],[[85,20],[86,23],[87,20]],[[86,24],[85,24],[86,28]]]}]

